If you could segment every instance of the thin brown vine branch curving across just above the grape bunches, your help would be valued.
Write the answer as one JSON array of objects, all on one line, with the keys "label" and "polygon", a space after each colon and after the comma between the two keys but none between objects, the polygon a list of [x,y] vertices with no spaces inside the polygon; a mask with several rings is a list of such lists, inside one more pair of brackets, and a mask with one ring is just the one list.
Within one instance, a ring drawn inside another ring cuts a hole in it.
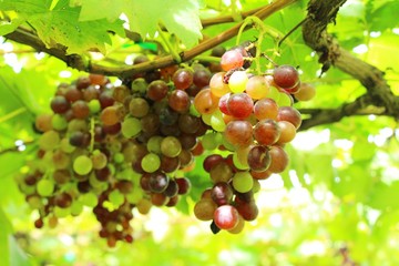
[{"label": "thin brown vine branch curving across just above the grape bunches", "polygon": [[[296,1],[297,0],[276,0],[275,2],[272,2],[270,4],[260,8],[253,16],[264,20],[270,14],[279,11],[280,9]],[[243,21],[235,24],[231,29],[219,33],[218,35],[201,42],[198,45],[194,47],[193,49],[182,52],[180,54],[182,61],[188,61],[191,59],[194,59],[196,55],[209,49],[213,49],[214,47],[218,45],[224,41],[232,39],[237,34],[242,24]],[[250,27],[252,25],[249,24],[246,28],[246,30],[249,29]],[[130,78],[136,73],[164,68],[175,63],[175,60],[172,55],[165,55],[154,61],[147,61],[140,64],[112,68],[112,66],[100,65],[98,63],[93,63],[90,61],[88,62],[83,57],[79,54],[66,54],[66,48],[64,47],[47,48],[45,43],[43,43],[34,32],[22,28],[18,28],[16,31],[7,34],[6,38],[19,43],[28,44],[34,48],[37,51],[42,51],[48,54],[51,54],[64,61],[71,68],[78,69],[80,71],[86,71],[86,72],[104,74],[104,75]]]}]

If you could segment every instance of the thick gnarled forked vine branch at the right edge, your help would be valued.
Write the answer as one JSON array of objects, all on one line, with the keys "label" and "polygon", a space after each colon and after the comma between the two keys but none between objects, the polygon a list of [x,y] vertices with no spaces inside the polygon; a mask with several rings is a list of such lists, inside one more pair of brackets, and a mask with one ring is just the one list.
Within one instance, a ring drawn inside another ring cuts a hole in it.
[{"label": "thick gnarled forked vine branch at the right edge", "polygon": [[307,45],[318,52],[324,70],[334,65],[359,80],[367,93],[337,109],[303,110],[301,112],[310,117],[303,121],[300,130],[337,122],[349,115],[378,114],[399,119],[399,98],[393,95],[383,79],[383,72],[354,57],[327,33],[327,24],[335,21],[345,2],[346,0],[310,0],[303,24],[303,35]]}]

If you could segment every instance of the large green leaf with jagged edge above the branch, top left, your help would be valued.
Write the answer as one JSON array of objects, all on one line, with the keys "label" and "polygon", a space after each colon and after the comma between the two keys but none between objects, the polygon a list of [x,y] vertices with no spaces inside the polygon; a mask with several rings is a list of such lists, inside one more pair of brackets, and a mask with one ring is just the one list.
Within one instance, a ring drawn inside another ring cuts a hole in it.
[{"label": "large green leaf with jagged edge above the branch, top left", "polygon": [[79,21],[81,8],[70,7],[69,0],[58,1],[53,9],[50,9],[51,3],[52,1],[3,0],[1,8],[17,11],[37,30],[47,47],[62,44],[66,47],[68,54],[88,50],[105,53],[105,43],[112,43],[110,31],[124,37],[122,20],[112,23],[105,19]]}]

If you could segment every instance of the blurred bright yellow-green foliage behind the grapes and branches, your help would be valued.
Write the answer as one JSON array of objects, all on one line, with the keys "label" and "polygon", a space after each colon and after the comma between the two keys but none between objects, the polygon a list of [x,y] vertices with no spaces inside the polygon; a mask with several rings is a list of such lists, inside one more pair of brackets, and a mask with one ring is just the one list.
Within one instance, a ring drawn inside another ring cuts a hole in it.
[{"label": "blurred bright yellow-green foliage behind the grapes and branches", "polygon": [[[265,2],[201,3],[201,16],[212,18]],[[282,37],[306,17],[306,4],[298,1],[265,24]],[[328,28],[345,49],[382,70],[395,94],[399,93],[398,9],[393,0],[348,0]],[[207,27],[202,33],[211,38],[234,24]],[[254,40],[257,34],[249,30],[241,40]],[[35,153],[34,116],[49,111],[59,83],[85,73],[0,39],[0,250],[4,258],[0,265],[399,265],[398,123],[376,115],[345,117],[298,133],[287,147],[288,170],[262,183],[259,216],[239,235],[213,235],[207,223],[193,216],[194,202],[208,186],[201,160],[188,173],[191,196],[177,211],[154,207],[146,216],[134,213],[133,244],[108,248],[90,209],[61,219],[57,228],[34,228],[38,214],[31,213],[13,177]],[[222,45],[229,48],[236,41]],[[130,64],[140,53],[151,54],[150,44],[113,35],[99,61]],[[317,54],[304,44],[300,29],[282,44],[278,57],[272,38],[262,49],[277,63],[298,65],[301,80],[316,85],[316,98],[297,103],[299,110],[337,108],[365,93],[357,80],[334,68],[319,78]],[[267,64],[264,61],[265,69]]]}]

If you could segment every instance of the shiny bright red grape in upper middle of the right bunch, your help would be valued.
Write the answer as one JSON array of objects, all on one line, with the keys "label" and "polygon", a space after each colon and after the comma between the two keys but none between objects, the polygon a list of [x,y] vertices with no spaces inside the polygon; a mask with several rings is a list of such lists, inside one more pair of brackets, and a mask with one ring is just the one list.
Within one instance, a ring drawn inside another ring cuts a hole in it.
[{"label": "shiny bright red grape in upper middle of the right bunch", "polygon": [[228,114],[237,119],[248,117],[254,109],[254,102],[246,93],[235,93],[227,100]]}]

